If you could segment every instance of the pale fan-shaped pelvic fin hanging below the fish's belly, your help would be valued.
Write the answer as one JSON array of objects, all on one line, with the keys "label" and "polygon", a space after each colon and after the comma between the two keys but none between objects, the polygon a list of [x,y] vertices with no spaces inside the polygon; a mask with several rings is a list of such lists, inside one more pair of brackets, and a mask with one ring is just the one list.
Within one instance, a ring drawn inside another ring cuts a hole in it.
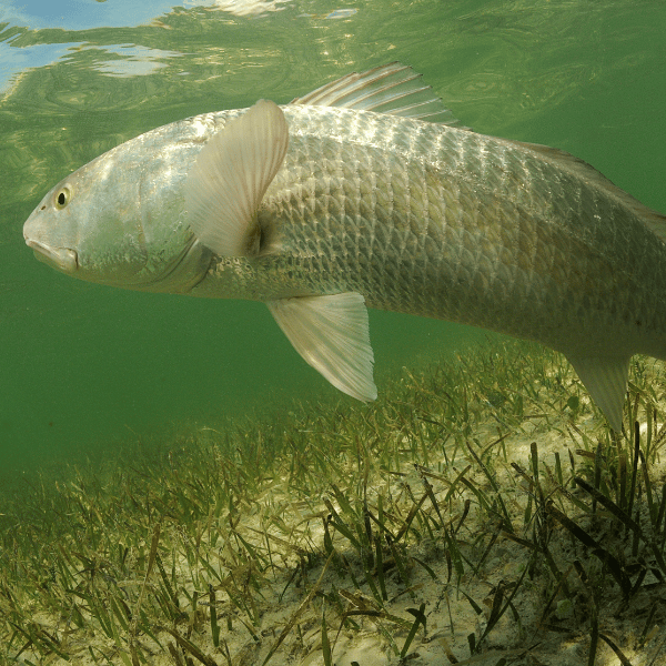
[{"label": "pale fan-shaped pelvic fin hanging below the fish's belly", "polygon": [[266,305],[296,352],[333,386],[363,402],[377,396],[361,294],[300,296]]}]

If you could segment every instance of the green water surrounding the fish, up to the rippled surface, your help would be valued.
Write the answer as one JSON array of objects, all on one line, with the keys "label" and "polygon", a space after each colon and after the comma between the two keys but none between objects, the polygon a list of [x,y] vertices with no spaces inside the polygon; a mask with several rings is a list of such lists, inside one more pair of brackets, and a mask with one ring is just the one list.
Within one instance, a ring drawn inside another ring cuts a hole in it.
[{"label": "green water surrounding the fish, up to the rippled surface", "polygon": [[[168,444],[294,400],[351,401],[261,304],[113,290],[33,259],[21,228],[43,194],[143,131],[260,98],[287,102],[401,60],[465,124],[571,151],[666,210],[664,2],[293,0],[230,11],[248,6],[0,7],[0,490],[138,436]],[[371,335],[380,391],[402,365],[478,339],[377,312]]]}]

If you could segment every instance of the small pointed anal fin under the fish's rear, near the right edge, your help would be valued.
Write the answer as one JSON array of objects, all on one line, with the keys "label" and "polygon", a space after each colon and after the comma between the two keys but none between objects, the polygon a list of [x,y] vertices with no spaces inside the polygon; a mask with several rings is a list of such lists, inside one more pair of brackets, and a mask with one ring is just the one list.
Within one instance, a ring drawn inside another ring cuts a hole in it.
[{"label": "small pointed anal fin under the fish's rear, near the right edge", "polygon": [[622,407],[627,392],[630,356],[576,356],[566,354],[581,381],[610,427],[622,431]]}]

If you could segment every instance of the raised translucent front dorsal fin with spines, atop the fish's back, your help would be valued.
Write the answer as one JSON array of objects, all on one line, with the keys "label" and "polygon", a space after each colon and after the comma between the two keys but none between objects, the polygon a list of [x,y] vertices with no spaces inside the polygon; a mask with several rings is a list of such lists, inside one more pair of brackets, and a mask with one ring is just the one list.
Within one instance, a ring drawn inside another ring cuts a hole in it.
[{"label": "raised translucent front dorsal fin with spines, atop the fish's back", "polygon": [[433,89],[423,84],[421,74],[401,62],[375,67],[360,74],[353,72],[290,103],[391,113],[460,128],[460,121]]}]

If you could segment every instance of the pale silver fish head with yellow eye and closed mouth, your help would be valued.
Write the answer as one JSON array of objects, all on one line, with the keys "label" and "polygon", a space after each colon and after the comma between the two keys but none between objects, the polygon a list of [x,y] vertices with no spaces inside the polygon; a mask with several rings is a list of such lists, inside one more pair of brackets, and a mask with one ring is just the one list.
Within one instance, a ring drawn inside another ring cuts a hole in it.
[{"label": "pale silver fish head with yellow eye and closed mouth", "polygon": [[27,220],[23,238],[38,260],[81,280],[186,293],[205,276],[212,253],[189,228],[185,173],[131,143],[58,183]]}]

